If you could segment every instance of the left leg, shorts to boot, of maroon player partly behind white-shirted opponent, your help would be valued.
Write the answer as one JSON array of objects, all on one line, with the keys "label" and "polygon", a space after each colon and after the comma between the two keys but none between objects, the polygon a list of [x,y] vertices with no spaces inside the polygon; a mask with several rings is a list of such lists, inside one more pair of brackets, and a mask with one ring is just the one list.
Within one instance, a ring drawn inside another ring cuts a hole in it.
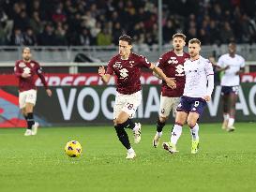
[{"label": "left leg, shorts to boot, of maroon player partly behind white-shirted opponent", "polygon": [[160,109],[157,121],[157,132],[153,139],[153,147],[158,147],[160,137],[162,136],[162,129],[170,114],[173,98],[168,96],[160,96]]}]

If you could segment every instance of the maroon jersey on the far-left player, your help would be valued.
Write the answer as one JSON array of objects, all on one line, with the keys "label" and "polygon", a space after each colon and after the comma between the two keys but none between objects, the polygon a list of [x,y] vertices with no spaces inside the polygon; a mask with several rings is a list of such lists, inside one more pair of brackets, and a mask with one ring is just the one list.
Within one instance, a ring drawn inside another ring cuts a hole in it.
[{"label": "maroon jersey on the far-left player", "polygon": [[[45,81],[44,76],[42,75],[42,68],[39,66],[38,62],[36,61],[30,61],[30,62],[24,62],[23,60],[18,60],[15,63],[14,67],[15,75],[19,78],[19,91],[27,91],[30,89],[37,89],[35,85],[35,75],[37,74],[38,77],[41,79],[44,87],[47,89],[48,85]],[[28,73],[31,76],[28,78],[23,78],[22,74]]]}]

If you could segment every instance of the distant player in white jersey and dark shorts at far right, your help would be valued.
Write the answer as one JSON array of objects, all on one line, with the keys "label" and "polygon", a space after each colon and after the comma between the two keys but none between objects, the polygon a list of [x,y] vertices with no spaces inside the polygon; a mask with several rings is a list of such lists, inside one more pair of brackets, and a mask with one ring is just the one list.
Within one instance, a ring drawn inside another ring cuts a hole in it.
[{"label": "distant player in white jersey and dark shorts at far right", "polygon": [[236,45],[229,44],[229,53],[223,54],[218,59],[218,66],[224,74],[221,78],[221,96],[223,101],[223,124],[222,129],[233,131],[235,103],[238,96],[240,78],[239,74],[244,72],[245,59],[236,54]]}]

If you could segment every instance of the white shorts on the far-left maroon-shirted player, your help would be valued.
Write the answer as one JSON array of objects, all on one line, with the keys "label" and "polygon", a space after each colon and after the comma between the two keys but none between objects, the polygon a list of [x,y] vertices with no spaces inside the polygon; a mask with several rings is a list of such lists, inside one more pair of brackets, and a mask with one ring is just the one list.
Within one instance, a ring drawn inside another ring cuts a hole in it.
[{"label": "white shorts on the far-left maroon-shirted player", "polygon": [[20,109],[23,109],[26,103],[32,103],[35,106],[36,102],[37,102],[37,91],[35,89],[30,89],[28,91],[20,92],[19,94]]}]

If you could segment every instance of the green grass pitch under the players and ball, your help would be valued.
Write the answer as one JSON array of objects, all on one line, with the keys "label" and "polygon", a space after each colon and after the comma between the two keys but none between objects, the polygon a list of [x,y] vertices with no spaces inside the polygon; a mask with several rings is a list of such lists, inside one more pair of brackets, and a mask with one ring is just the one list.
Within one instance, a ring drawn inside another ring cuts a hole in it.
[{"label": "green grass pitch under the players and ball", "polygon": [[[188,126],[171,155],[152,147],[155,126],[143,126],[127,160],[112,126],[40,128],[24,137],[22,128],[0,129],[0,191],[256,191],[256,124],[236,123],[233,133],[220,124],[200,125],[200,153],[190,154]],[[169,140],[165,126],[161,141]],[[80,158],[64,154],[68,140],[83,146]]]}]

